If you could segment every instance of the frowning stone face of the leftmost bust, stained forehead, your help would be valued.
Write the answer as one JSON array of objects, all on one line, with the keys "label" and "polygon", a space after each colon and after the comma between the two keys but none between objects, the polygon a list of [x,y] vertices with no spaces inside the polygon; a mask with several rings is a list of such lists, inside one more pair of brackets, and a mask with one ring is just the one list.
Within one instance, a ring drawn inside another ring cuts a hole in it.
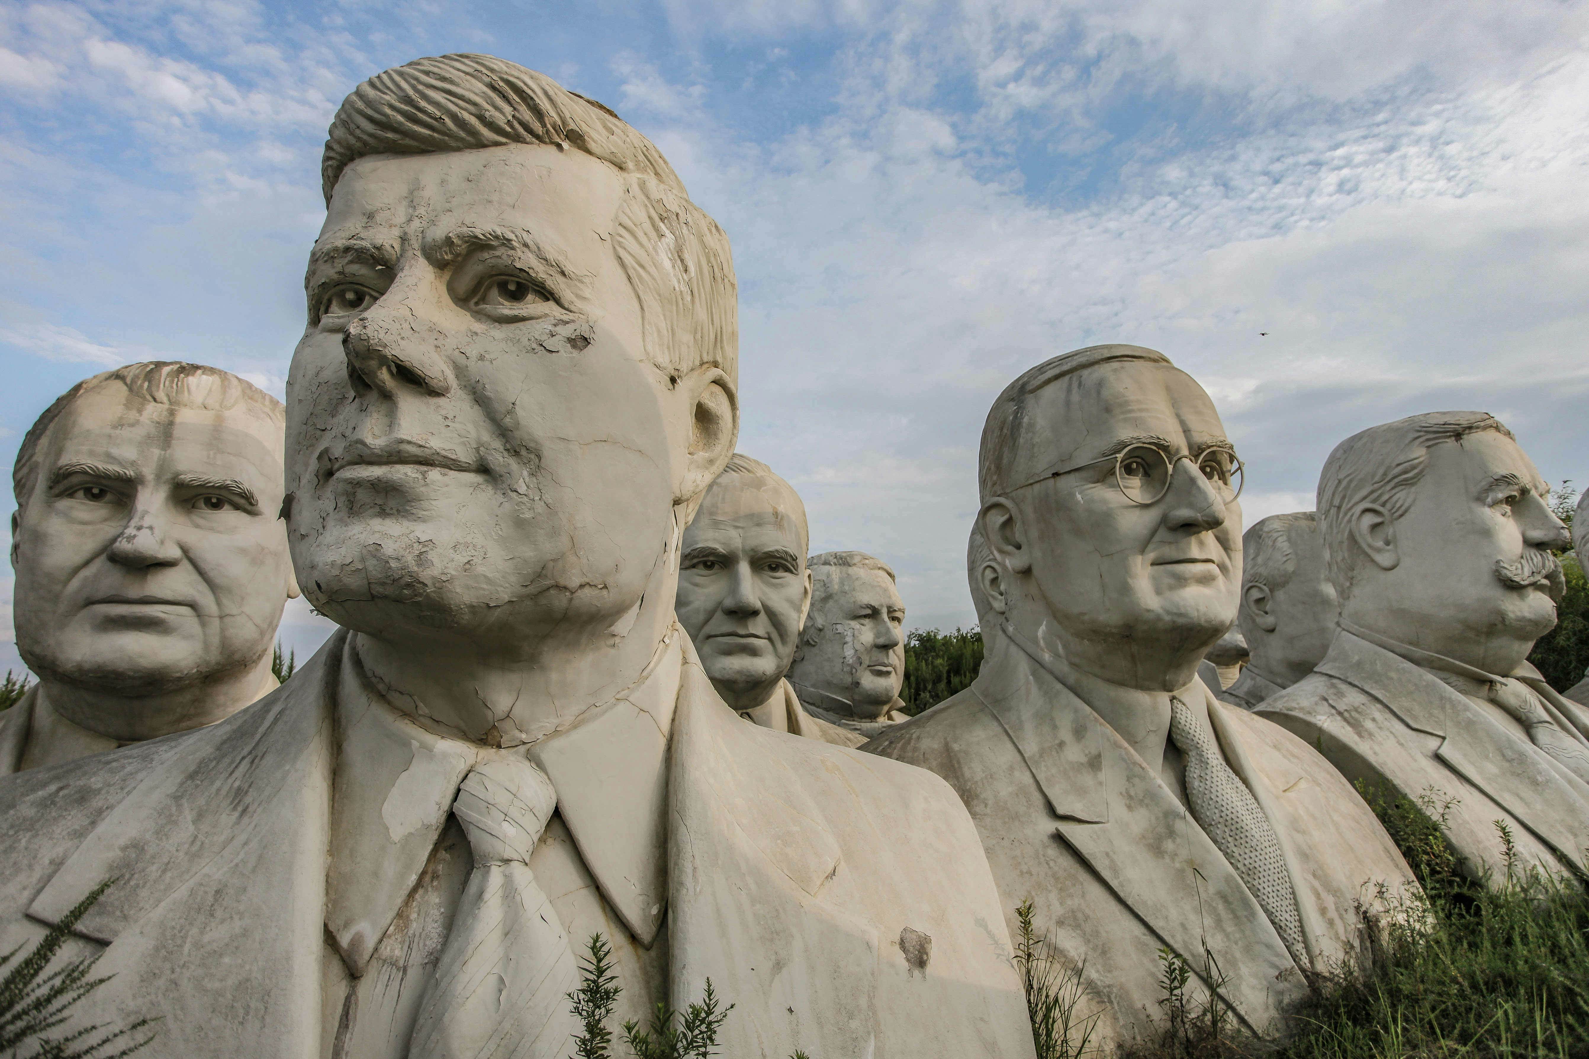
[{"label": "frowning stone face of the leftmost bust, stained forehead", "polygon": [[[51,424],[16,519],[27,664],[129,697],[257,664],[296,594],[280,468],[281,429],[248,405],[173,408],[119,383],[86,391]],[[140,740],[211,719],[151,713],[91,727]]]}]

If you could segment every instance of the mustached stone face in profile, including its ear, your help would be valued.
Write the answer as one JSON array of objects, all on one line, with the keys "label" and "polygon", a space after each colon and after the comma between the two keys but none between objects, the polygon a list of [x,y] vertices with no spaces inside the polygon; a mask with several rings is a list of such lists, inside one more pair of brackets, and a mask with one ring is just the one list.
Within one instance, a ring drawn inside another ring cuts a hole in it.
[{"label": "mustached stone face in profile, including its ear", "polygon": [[[1425,651],[1510,673],[1556,624],[1568,535],[1517,443],[1494,430],[1429,449],[1413,506],[1370,508],[1347,618]],[[1371,560],[1371,564],[1370,564]],[[1378,568],[1376,568],[1378,567]]]}]

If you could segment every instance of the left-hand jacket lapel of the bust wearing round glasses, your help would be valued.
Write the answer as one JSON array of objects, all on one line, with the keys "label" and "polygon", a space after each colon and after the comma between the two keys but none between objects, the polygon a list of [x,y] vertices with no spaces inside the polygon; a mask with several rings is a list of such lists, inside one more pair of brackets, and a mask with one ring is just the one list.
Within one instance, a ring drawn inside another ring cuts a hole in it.
[{"label": "left-hand jacket lapel of the bust wearing round glasses", "polygon": [[1204,967],[1206,942],[1227,997],[1252,1024],[1273,980],[1295,973],[1268,916],[1142,759],[1025,651],[1009,649],[1015,664],[984,668],[1004,673],[1003,683],[977,694],[1058,814],[1058,837],[1193,970]]}]

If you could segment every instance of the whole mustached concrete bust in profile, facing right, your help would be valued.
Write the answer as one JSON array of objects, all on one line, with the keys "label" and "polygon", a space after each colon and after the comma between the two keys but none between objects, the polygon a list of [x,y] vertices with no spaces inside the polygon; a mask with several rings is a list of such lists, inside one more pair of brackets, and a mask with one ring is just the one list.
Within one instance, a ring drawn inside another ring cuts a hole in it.
[{"label": "whole mustached concrete bust in profile, facing right", "polygon": [[1365,780],[1444,813],[1475,875],[1579,864],[1589,721],[1527,664],[1556,622],[1568,543],[1511,432],[1436,411],[1341,441],[1319,476],[1340,632],[1314,673],[1260,707]]}]

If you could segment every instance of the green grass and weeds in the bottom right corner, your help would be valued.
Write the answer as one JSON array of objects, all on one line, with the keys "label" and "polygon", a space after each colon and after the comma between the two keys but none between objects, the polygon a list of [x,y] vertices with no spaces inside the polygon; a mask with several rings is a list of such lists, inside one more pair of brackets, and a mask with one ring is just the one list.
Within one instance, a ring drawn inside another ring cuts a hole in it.
[{"label": "green grass and weeds in the bottom right corner", "polygon": [[1505,880],[1470,883],[1440,834],[1451,803],[1433,792],[1421,803],[1371,800],[1427,897],[1381,924],[1362,969],[1320,980],[1284,1054],[1589,1056],[1589,895],[1514,857]]}]

